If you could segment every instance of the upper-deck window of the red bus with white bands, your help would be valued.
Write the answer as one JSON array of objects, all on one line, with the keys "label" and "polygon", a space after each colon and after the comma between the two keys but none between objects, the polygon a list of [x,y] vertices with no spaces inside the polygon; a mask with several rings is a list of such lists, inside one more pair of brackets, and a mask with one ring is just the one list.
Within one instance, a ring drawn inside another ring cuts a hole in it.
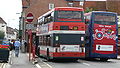
[{"label": "upper-deck window of the red bus with white bands", "polygon": [[82,19],[81,11],[58,11],[58,18]]}]

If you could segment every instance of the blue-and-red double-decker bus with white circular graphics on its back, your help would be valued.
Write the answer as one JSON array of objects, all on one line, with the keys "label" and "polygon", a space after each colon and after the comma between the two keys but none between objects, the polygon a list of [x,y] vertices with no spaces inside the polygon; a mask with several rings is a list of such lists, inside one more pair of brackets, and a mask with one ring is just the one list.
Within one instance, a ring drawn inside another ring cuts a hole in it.
[{"label": "blue-and-red double-decker bus with white circular graphics on its back", "polygon": [[93,11],[85,14],[87,58],[117,58],[118,23],[117,14],[113,12]]}]

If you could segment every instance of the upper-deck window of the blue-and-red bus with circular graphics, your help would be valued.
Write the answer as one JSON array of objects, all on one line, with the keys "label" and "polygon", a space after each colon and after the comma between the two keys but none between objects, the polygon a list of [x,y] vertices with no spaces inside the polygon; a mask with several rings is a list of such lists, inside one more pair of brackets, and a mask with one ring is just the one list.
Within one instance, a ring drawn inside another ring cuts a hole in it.
[{"label": "upper-deck window of the blue-and-red bus with circular graphics", "polygon": [[114,25],[116,22],[115,15],[111,14],[95,14],[94,23],[102,24],[102,25]]}]

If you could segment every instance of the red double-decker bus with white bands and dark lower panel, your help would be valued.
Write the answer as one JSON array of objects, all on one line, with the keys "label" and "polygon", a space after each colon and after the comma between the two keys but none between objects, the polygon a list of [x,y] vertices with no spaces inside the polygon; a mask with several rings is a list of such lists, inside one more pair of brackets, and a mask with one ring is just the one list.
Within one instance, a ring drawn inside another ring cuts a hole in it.
[{"label": "red double-decker bus with white bands and dark lower panel", "polygon": [[82,8],[56,7],[38,18],[37,54],[47,59],[78,59],[83,54],[85,23]]}]

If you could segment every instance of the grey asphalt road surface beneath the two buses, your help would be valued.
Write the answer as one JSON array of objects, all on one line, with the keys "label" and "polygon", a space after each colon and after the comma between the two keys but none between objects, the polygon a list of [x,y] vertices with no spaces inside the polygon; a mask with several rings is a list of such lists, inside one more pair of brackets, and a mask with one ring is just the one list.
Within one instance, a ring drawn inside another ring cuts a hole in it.
[{"label": "grey asphalt road surface beneath the two buses", "polygon": [[99,60],[82,60],[79,59],[76,62],[68,61],[57,61],[57,62],[46,62],[52,68],[120,68],[120,60],[110,59],[106,62]]}]

